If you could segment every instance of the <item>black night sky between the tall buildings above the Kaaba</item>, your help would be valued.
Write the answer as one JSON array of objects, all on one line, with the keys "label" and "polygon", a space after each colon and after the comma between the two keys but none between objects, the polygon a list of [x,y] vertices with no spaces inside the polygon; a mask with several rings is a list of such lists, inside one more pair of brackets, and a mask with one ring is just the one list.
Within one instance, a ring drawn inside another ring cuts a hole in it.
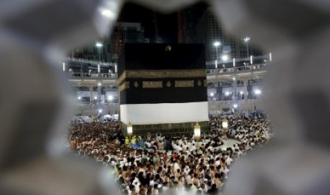
[{"label": "black night sky between the tall buildings above the Kaaba", "polygon": [[[163,42],[177,42],[177,12],[171,14],[156,13],[158,37]],[[136,4],[125,4],[121,11],[121,22],[141,23],[145,30],[145,37],[150,42],[155,41],[154,11]]]}]

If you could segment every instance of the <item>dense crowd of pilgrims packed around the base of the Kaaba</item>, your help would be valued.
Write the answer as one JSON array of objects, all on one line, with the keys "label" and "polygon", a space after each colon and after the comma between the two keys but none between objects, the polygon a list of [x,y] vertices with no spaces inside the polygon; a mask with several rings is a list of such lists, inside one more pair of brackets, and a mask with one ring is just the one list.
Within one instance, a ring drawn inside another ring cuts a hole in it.
[{"label": "dense crowd of pilgrims packed around the base of the Kaaba", "polygon": [[[221,150],[224,117],[229,121],[226,136],[237,143]],[[221,194],[232,162],[262,147],[273,131],[260,114],[213,114],[209,125],[210,131],[199,141],[193,136],[148,134],[133,136],[133,143],[127,144],[118,121],[76,121],[70,124],[69,138],[75,153],[111,167],[121,194]]]}]

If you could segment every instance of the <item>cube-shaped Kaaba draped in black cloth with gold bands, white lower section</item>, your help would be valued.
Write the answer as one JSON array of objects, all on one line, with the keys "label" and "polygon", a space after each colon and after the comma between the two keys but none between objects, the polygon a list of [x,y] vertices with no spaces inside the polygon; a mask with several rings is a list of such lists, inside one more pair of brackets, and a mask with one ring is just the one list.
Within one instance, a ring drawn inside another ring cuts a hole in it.
[{"label": "cube-shaped Kaaba draped in black cloth with gold bands, white lower section", "polygon": [[204,45],[126,43],[119,58],[121,128],[133,134],[209,129]]}]

